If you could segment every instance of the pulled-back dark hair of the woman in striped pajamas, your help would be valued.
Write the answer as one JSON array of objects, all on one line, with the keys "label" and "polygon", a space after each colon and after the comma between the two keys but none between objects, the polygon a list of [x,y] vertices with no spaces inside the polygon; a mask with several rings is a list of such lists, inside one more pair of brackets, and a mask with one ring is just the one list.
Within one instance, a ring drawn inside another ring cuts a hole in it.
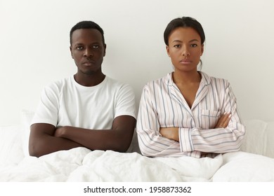
[{"label": "pulled-back dark hair of the woman in striped pajamas", "polygon": [[202,25],[200,22],[195,20],[195,18],[191,17],[182,17],[182,18],[175,18],[174,20],[171,20],[169,24],[167,25],[167,28],[164,30],[164,43],[166,45],[169,45],[169,35],[171,34],[174,29],[178,27],[191,27],[197,31],[197,33],[201,37],[202,44],[205,41],[205,35],[204,35],[204,29],[202,28]]}]

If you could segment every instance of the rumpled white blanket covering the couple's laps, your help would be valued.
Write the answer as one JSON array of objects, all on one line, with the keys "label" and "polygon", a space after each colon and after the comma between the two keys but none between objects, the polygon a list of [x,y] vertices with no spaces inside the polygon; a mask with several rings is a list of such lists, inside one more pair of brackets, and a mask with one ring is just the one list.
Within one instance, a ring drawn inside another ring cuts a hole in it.
[{"label": "rumpled white blanket covering the couple's laps", "polygon": [[216,158],[147,158],[138,153],[74,148],[41,158],[25,157],[0,169],[0,181],[211,181],[223,163]]}]

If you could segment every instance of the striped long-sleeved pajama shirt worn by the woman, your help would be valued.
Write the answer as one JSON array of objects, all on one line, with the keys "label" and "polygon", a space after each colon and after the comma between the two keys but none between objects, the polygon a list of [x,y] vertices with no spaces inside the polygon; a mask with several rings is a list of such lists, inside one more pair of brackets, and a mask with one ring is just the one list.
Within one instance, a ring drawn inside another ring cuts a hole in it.
[{"label": "striped long-sleeved pajama shirt worn by the woman", "polygon": [[[141,153],[151,157],[201,157],[201,152],[239,151],[244,125],[228,80],[200,72],[202,80],[193,106],[188,106],[172,73],[143,87],[136,131]],[[226,128],[214,129],[221,114],[232,117]],[[179,127],[179,142],[162,137],[160,127]]]}]

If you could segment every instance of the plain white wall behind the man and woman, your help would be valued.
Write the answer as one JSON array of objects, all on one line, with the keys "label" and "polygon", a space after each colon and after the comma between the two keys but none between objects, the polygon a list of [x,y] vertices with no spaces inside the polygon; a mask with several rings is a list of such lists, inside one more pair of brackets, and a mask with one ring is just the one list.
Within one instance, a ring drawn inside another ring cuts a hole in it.
[{"label": "plain white wall behind the man and woman", "polygon": [[230,80],[242,118],[274,120],[273,2],[0,0],[0,126],[20,123],[44,85],[76,72],[69,31],[81,20],[104,29],[103,71],[131,84],[138,104],[148,80],[172,71],[163,32],[183,15],[202,23],[202,71]]}]

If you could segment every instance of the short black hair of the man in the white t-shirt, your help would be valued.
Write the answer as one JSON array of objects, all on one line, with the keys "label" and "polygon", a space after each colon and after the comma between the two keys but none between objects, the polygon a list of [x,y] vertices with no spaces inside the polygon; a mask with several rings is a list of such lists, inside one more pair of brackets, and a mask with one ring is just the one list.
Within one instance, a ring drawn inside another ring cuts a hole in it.
[{"label": "short black hair of the man in the white t-shirt", "polygon": [[103,44],[105,44],[103,29],[98,24],[96,24],[96,22],[85,20],[85,21],[78,22],[70,30],[70,45],[72,45],[72,33],[77,29],[97,29],[98,31],[100,31],[100,34],[102,35]]}]

